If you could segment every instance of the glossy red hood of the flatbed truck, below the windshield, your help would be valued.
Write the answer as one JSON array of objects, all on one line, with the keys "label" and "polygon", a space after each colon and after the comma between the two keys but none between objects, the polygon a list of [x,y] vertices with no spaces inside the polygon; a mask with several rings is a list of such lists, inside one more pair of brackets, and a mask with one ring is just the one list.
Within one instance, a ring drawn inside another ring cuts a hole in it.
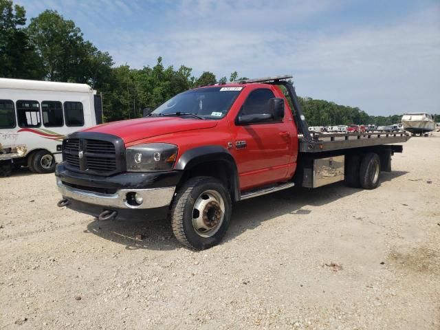
[{"label": "glossy red hood of the flatbed truck, below the windshield", "polygon": [[191,131],[194,129],[210,129],[217,126],[215,120],[199,120],[191,118],[139,118],[132,120],[122,120],[120,122],[109,122],[83,132],[99,132],[119,136],[125,143],[146,139],[157,135]]}]

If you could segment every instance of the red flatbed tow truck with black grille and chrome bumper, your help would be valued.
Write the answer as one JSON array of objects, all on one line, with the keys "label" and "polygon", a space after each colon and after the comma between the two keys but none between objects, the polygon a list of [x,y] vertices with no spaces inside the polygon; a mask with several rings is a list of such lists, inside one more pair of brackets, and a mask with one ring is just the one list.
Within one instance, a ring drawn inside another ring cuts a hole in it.
[{"label": "red flatbed tow truck with black grille and chrome bumper", "polygon": [[289,78],[191,89],[146,118],[68,135],[56,167],[58,206],[100,220],[166,210],[177,240],[203,250],[225,235],[234,202],[342,180],[376,188],[402,152],[396,143],[410,137],[311,135]]}]

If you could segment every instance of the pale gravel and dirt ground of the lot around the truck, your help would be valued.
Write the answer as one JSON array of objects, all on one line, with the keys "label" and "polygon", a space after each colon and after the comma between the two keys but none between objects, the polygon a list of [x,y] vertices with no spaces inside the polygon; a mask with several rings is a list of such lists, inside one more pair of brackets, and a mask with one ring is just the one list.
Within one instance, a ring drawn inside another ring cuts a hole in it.
[{"label": "pale gravel and dirt ground of the lot around the truck", "polygon": [[53,174],[0,178],[0,329],[440,329],[440,133],[375,190],[238,203],[203,252],[58,199]]}]

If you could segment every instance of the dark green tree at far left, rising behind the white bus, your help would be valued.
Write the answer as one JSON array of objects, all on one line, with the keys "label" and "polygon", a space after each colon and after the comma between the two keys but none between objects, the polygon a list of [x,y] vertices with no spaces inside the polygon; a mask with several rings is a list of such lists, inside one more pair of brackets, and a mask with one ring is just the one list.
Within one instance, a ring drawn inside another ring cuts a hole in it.
[{"label": "dark green tree at far left, rising behind the white bus", "polygon": [[41,58],[23,30],[25,9],[11,0],[0,0],[0,76],[41,79]]}]

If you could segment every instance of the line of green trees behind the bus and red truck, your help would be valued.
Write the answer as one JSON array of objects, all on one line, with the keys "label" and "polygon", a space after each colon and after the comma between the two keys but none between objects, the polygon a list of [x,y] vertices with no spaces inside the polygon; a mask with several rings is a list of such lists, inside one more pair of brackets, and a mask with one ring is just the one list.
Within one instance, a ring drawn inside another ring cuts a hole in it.
[{"label": "line of green trees behind the bus and red truck", "polygon": [[[25,13],[12,0],[0,0],[0,76],[88,84],[102,95],[105,121],[141,117],[142,109],[154,109],[190,88],[245,79],[237,72],[229,78],[218,79],[208,71],[195,77],[185,65],[165,67],[161,57],[154,66],[142,69],[115,66],[108,52],[84,39],[74,21],[45,10],[26,26]],[[382,125],[400,120],[400,115],[372,116],[358,107],[326,100],[300,98],[300,104],[311,126]]]}]

